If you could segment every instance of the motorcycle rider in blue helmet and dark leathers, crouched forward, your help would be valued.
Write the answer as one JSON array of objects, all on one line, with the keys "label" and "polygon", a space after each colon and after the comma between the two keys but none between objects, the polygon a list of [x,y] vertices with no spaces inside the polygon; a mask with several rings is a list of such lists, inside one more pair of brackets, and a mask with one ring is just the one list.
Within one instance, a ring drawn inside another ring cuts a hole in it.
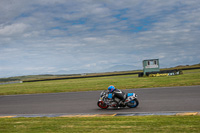
[{"label": "motorcycle rider in blue helmet and dark leathers, crouched forward", "polygon": [[109,93],[112,93],[112,99],[114,101],[116,101],[115,98],[118,98],[120,101],[116,101],[118,103],[118,105],[123,105],[124,100],[126,99],[126,93],[124,93],[123,91],[115,88],[113,85],[110,85],[108,87],[108,91]]}]

